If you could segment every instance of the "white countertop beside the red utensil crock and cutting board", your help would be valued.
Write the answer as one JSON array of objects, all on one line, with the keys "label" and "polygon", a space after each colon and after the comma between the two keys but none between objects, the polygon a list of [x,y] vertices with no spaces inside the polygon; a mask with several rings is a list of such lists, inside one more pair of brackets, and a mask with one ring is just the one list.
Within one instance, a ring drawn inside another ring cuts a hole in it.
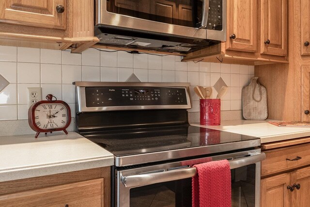
[{"label": "white countertop beside the red utensil crock and cutting board", "polygon": [[219,126],[204,126],[200,124],[191,125],[260,137],[261,143],[270,143],[310,136],[310,127],[277,127],[269,124],[268,120],[221,121],[221,125]]}]

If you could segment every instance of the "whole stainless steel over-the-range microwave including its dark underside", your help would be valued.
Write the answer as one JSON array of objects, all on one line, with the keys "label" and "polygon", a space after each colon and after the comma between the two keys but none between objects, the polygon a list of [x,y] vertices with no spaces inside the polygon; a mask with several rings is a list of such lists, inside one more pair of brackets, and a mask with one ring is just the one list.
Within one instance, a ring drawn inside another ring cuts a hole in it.
[{"label": "whole stainless steel over-the-range microwave including its dark underside", "polygon": [[226,0],[96,0],[99,44],[188,53],[226,41]]}]

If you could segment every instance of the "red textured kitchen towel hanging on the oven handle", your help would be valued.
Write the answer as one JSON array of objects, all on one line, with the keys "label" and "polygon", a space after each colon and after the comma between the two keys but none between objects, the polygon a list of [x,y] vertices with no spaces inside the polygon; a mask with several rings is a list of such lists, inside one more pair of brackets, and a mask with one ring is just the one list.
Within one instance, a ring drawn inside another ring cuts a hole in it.
[{"label": "red textured kitchen towel hanging on the oven handle", "polygon": [[192,178],[192,207],[231,207],[231,170],[228,160],[196,164]]}]

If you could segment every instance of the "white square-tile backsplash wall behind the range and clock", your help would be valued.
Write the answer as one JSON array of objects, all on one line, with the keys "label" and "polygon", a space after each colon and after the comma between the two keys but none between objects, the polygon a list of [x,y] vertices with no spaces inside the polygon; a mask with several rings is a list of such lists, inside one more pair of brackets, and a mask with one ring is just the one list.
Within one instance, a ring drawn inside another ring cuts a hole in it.
[{"label": "white square-tile backsplash wall behind the range and clock", "polygon": [[[181,62],[181,56],[129,54],[124,51],[82,54],[69,51],[0,46],[0,75],[11,84],[0,93],[0,120],[28,119],[27,88],[42,87],[42,98],[53,94],[66,101],[75,116],[73,81],[125,81],[133,73],[142,82],[190,82],[192,120],[199,115],[196,85],[213,86],[221,77],[229,86],[221,110],[241,110],[241,90],[254,76],[254,66],[206,62]],[[217,92],[213,88],[213,97]]]}]

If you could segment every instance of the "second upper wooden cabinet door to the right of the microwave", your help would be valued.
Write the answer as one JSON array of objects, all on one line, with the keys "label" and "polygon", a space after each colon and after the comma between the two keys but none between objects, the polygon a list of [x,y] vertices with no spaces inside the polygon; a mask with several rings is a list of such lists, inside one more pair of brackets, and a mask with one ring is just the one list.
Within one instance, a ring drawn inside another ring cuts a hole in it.
[{"label": "second upper wooden cabinet door to the right of the microwave", "polygon": [[287,0],[261,0],[261,53],[287,54]]}]

